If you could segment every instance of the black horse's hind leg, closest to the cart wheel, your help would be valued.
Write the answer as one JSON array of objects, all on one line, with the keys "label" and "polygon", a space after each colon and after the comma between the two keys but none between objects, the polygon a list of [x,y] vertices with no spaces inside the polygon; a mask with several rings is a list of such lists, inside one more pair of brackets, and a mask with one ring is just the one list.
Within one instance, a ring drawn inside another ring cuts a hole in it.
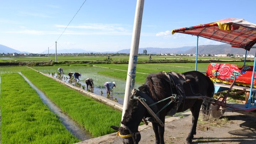
[{"label": "black horse's hind leg, closest to the cart wheel", "polygon": [[196,105],[194,105],[193,107],[190,108],[190,111],[192,113],[192,127],[191,127],[190,133],[188,134],[188,137],[186,139],[188,144],[192,143],[192,139],[194,138],[194,135],[196,135],[196,126],[197,126],[197,121],[198,121],[199,112],[200,112],[200,108],[201,108],[201,105],[199,105],[197,103],[195,103],[195,104]]}]

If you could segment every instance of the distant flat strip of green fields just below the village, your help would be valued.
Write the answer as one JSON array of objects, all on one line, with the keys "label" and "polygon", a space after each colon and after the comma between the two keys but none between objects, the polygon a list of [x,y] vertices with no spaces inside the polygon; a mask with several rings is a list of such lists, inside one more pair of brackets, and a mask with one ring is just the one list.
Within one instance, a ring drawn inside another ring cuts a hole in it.
[{"label": "distant flat strip of green fields just below the village", "polygon": [[[181,58],[181,59],[180,59]],[[214,57],[214,59],[220,60],[230,60],[230,61],[241,61],[243,58],[234,58],[234,57]],[[55,55],[48,56],[2,56],[0,55],[0,62],[48,62],[49,60],[55,61]],[[210,57],[198,57],[200,60],[210,60]],[[75,61],[104,61],[107,60],[107,55],[57,55],[57,62],[75,62]],[[111,61],[129,61],[129,54],[127,55],[117,55],[113,54],[110,57]],[[152,55],[152,61],[165,61],[165,60],[192,60],[195,61],[196,57],[173,57],[173,56],[162,56],[162,55]],[[254,60],[253,58],[247,58],[247,60]],[[138,62],[140,61],[149,61],[148,55],[138,55]]]}]

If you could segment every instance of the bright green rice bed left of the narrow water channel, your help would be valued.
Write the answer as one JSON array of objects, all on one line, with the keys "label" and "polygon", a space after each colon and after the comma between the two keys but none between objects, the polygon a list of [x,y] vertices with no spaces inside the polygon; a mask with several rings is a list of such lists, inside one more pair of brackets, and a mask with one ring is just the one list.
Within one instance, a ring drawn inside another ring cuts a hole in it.
[{"label": "bright green rice bed left of the narrow water channel", "polygon": [[[15,84],[14,84],[15,82]],[[79,142],[19,74],[1,75],[1,143]]]}]

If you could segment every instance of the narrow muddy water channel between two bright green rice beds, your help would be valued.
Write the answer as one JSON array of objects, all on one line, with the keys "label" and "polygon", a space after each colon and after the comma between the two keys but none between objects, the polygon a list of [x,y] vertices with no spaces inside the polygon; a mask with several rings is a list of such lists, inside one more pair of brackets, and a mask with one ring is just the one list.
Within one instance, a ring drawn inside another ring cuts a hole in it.
[{"label": "narrow muddy water channel between two bright green rice beds", "polygon": [[[80,140],[87,140],[91,139],[92,135],[87,132],[83,127],[79,126],[78,123],[76,123],[73,119],[71,119],[66,114],[62,113],[60,108],[58,108],[52,101],[50,101],[44,93],[39,90],[36,86],[34,86],[23,74],[19,72],[19,74],[28,82],[28,84],[36,90],[37,94],[42,99],[43,103],[47,105],[47,107],[52,111],[54,114],[57,114],[59,119],[62,121],[62,124],[65,126],[67,130],[71,134],[73,134],[75,137],[77,137]],[[1,81],[0,81],[1,82]]]}]

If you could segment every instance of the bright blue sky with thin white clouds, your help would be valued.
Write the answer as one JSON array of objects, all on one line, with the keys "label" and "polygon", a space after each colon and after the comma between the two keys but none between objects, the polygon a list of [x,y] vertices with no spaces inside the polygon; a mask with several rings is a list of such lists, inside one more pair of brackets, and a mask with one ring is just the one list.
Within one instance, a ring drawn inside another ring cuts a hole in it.
[{"label": "bright blue sky with thin white clouds", "polygon": [[[1,0],[0,44],[31,53],[42,53],[48,47],[55,49],[55,41],[57,52],[73,48],[95,52],[130,49],[136,3],[136,0]],[[196,46],[195,36],[172,35],[171,30],[224,18],[256,23],[255,4],[255,0],[145,0],[139,48]],[[224,43],[199,38],[199,45],[206,44]]]}]

